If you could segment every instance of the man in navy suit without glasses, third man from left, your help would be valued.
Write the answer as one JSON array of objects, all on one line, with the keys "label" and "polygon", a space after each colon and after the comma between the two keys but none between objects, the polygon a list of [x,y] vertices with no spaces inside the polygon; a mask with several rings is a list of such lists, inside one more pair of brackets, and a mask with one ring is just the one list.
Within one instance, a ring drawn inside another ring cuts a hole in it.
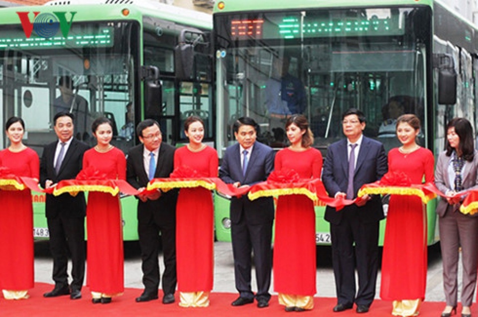
[{"label": "man in navy suit without glasses, third man from left", "polygon": [[[234,135],[239,144],[226,150],[219,176],[236,187],[249,186],[267,179],[274,168],[274,152],[256,141],[257,124],[251,118],[239,118],[234,123]],[[257,279],[257,307],[269,306],[272,267],[272,221],[274,202],[270,197],[249,200],[247,195],[231,198],[231,235],[234,256],[234,276],[239,298],[233,306],[254,301],[250,287],[251,252]]]}]

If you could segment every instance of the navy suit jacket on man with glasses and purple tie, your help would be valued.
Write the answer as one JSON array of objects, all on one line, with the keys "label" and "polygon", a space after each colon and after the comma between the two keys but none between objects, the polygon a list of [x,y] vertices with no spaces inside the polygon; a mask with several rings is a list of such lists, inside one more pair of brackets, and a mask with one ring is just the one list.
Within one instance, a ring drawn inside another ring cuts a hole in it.
[{"label": "navy suit jacket on man with glasses and purple tie", "polygon": [[[354,197],[357,196],[357,192],[363,184],[379,180],[387,170],[387,156],[383,145],[364,136],[354,174]],[[338,141],[327,149],[322,181],[331,197],[334,197],[337,192],[347,192],[349,183],[347,139]],[[359,218],[364,222],[379,221],[384,218],[382,203],[377,195],[372,196],[362,207],[358,207],[358,210]],[[333,224],[340,224],[344,212],[347,211],[344,209],[337,211],[335,208],[327,206],[325,220]]]}]

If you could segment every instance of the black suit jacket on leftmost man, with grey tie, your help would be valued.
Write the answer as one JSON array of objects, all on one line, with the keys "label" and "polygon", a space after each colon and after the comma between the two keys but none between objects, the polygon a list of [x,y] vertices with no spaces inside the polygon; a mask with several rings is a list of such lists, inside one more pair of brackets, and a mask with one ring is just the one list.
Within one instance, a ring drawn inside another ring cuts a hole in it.
[{"label": "black suit jacket on leftmost man, with grey tie", "polygon": [[[88,145],[73,138],[65,154],[58,175],[53,167],[55,151],[58,141],[45,147],[40,161],[40,184],[45,188],[47,179],[57,183],[63,179],[75,179],[83,166],[83,154],[89,149]],[[86,202],[83,192],[76,196],[64,193],[59,196],[46,195],[45,214],[47,218],[55,218],[58,214],[67,218],[80,218],[86,215]]]}]

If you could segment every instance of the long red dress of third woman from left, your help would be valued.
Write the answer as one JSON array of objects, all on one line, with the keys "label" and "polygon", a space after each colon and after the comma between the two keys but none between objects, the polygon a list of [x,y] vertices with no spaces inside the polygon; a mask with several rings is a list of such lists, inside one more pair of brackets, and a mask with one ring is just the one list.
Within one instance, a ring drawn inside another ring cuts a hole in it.
[{"label": "long red dress of third woman from left", "polygon": [[[176,150],[174,168],[217,177],[218,154],[211,147],[191,152]],[[178,175],[180,174],[177,171]],[[212,193],[204,187],[181,188],[176,206],[176,271],[178,291],[209,292],[213,289],[214,207]]]}]

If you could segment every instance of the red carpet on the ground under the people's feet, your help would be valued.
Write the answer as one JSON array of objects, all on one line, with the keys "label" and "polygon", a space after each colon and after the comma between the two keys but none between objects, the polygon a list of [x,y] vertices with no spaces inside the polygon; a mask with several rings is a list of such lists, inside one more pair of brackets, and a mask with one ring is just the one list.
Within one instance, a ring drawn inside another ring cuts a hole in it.
[{"label": "red carpet on the ground under the people's feet", "polygon": [[[343,313],[333,313],[332,308],[336,304],[335,298],[315,298],[315,308],[311,312],[304,313],[286,313],[284,308],[277,303],[277,297],[273,296],[270,306],[264,309],[258,309],[255,304],[245,305],[243,307],[232,307],[231,302],[237,298],[237,294],[212,293],[211,305],[208,308],[181,308],[175,304],[163,305],[161,300],[148,303],[135,303],[134,298],[139,296],[142,290],[126,289],[124,295],[114,298],[111,304],[91,303],[91,296],[87,287],[83,288],[83,299],[71,301],[68,296],[57,298],[43,298],[42,294],[52,289],[52,285],[36,283],[35,288],[30,290],[30,299],[21,301],[7,301],[0,299],[1,317],[109,317],[109,316],[239,316],[251,317],[260,315],[261,317],[272,316],[335,316],[335,317],[384,317],[392,316],[391,303],[375,300],[368,314],[358,315],[355,310],[349,310]],[[161,299],[160,294],[160,299]],[[176,301],[178,297],[176,296]],[[425,302],[422,306],[420,317],[440,316],[445,307],[444,303]],[[460,310],[461,308],[459,308]],[[472,308],[472,313],[477,314],[477,309]]]}]

